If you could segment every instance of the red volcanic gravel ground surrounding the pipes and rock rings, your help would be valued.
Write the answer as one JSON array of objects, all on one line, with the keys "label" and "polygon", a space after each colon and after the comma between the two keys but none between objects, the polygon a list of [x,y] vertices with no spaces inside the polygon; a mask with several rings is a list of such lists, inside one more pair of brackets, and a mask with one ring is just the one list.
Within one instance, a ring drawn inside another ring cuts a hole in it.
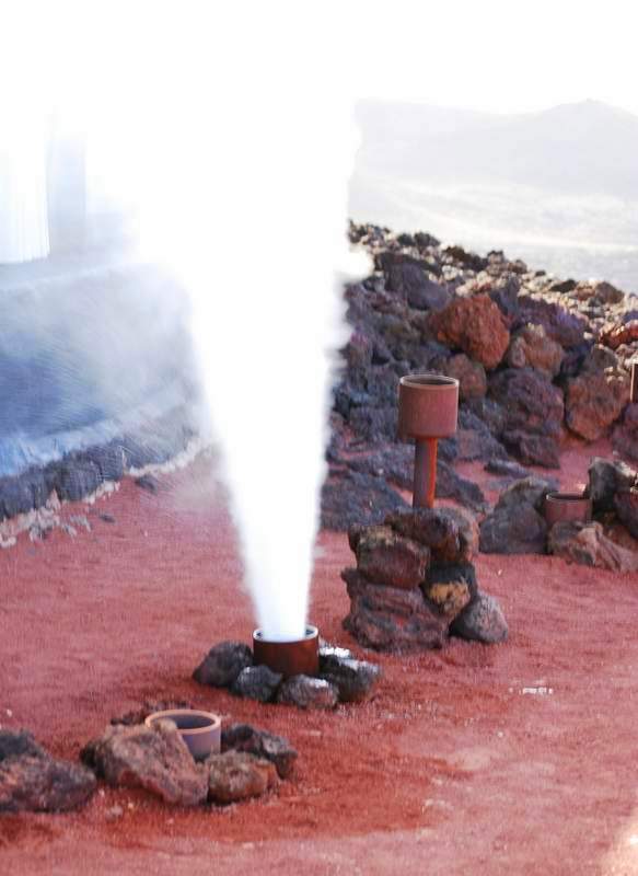
[{"label": "red volcanic gravel ground surrounding the pipes and rock rings", "polygon": [[[565,486],[593,452],[610,450],[565,453]],[[299,766],[228,808],[104,787],[78,814],[0,816],[0,873],[638,873],[637,575],[479,556],[507,644],[373,657],[385,676],[371,702],[304,714],[190,680],[210,645],[248,642],[254,626],[206,461],[161,476],[155,495],[128,481],[66,514],[86,514],[92,531],[0,551],[1,725],[74,758],[111,717],[184,698],[283,734]],[[322,533],[318,548],[312,620],[352,645],[347,539]]]}]

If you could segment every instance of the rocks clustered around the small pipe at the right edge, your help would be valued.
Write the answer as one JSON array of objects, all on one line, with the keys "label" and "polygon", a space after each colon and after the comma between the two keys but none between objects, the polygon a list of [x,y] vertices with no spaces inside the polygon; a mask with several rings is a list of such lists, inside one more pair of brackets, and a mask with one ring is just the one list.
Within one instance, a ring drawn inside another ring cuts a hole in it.
[{"label": "rocks clustered around the small pipe at the right edge", "polygon": [[638,570],[638,472],[619,460],[595,458],[588,479],[592,520],[553,527],[547,526],[544,505],[557,483],[535,476],[515,481],[480,522],[480,550],[549,553],[596,568]]}]

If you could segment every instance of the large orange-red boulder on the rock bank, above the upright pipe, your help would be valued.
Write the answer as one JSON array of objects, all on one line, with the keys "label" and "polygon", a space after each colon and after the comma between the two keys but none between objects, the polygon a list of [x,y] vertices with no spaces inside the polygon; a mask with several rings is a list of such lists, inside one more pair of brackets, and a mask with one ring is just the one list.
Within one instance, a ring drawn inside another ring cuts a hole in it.
[{"label": "large orange-red boulder on the rock bank, above the upright pipe", "polygon": [[438,341],[466,353],[485,368],[496,368],[510,343],[510,333],[498,307],[486,295],[454,299],[429,318]]}]

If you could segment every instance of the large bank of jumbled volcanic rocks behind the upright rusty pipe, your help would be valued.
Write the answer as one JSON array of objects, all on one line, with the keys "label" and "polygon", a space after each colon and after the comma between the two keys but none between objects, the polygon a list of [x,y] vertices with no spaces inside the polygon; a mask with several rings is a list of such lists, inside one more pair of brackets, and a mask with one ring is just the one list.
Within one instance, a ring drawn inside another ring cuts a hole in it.
[{"label": "large bank of jumbled volcanic rocks behind the upright rusty pipe", "polygon": [[[322,522],[380,523],[411,488],[413,449],[396,441],[397,387],[407,373],[460,381],[459,430],[440,441],[437,496],[482,515],[479,486],[456,461],[559,464],[568,435],[611,435],[638,458],[629,364],[638,299],[608,283],[556,279],[500,251],[441,246],[426,233],[352,224],[373,270],[345,290],[351,336],[334,389]],[[398,488],[398,489],[397,489]]]}]

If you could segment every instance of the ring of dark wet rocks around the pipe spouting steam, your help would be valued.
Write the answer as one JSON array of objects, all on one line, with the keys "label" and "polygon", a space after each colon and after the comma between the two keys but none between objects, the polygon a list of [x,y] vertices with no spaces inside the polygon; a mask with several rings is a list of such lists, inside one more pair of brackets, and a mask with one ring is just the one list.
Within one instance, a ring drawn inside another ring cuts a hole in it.
[{"label": "ring of dark wet rocks around the pipe spouting steam", "polygon": [[367,700],[381,678],[381,667],[358,660],[348,648],[323,643],[317,676],[285,679],[267,666],[254,665],[253,652],[243,642],[220,642],[208,652],[193,678],[262,703],[335,708],[338,703]]}]

